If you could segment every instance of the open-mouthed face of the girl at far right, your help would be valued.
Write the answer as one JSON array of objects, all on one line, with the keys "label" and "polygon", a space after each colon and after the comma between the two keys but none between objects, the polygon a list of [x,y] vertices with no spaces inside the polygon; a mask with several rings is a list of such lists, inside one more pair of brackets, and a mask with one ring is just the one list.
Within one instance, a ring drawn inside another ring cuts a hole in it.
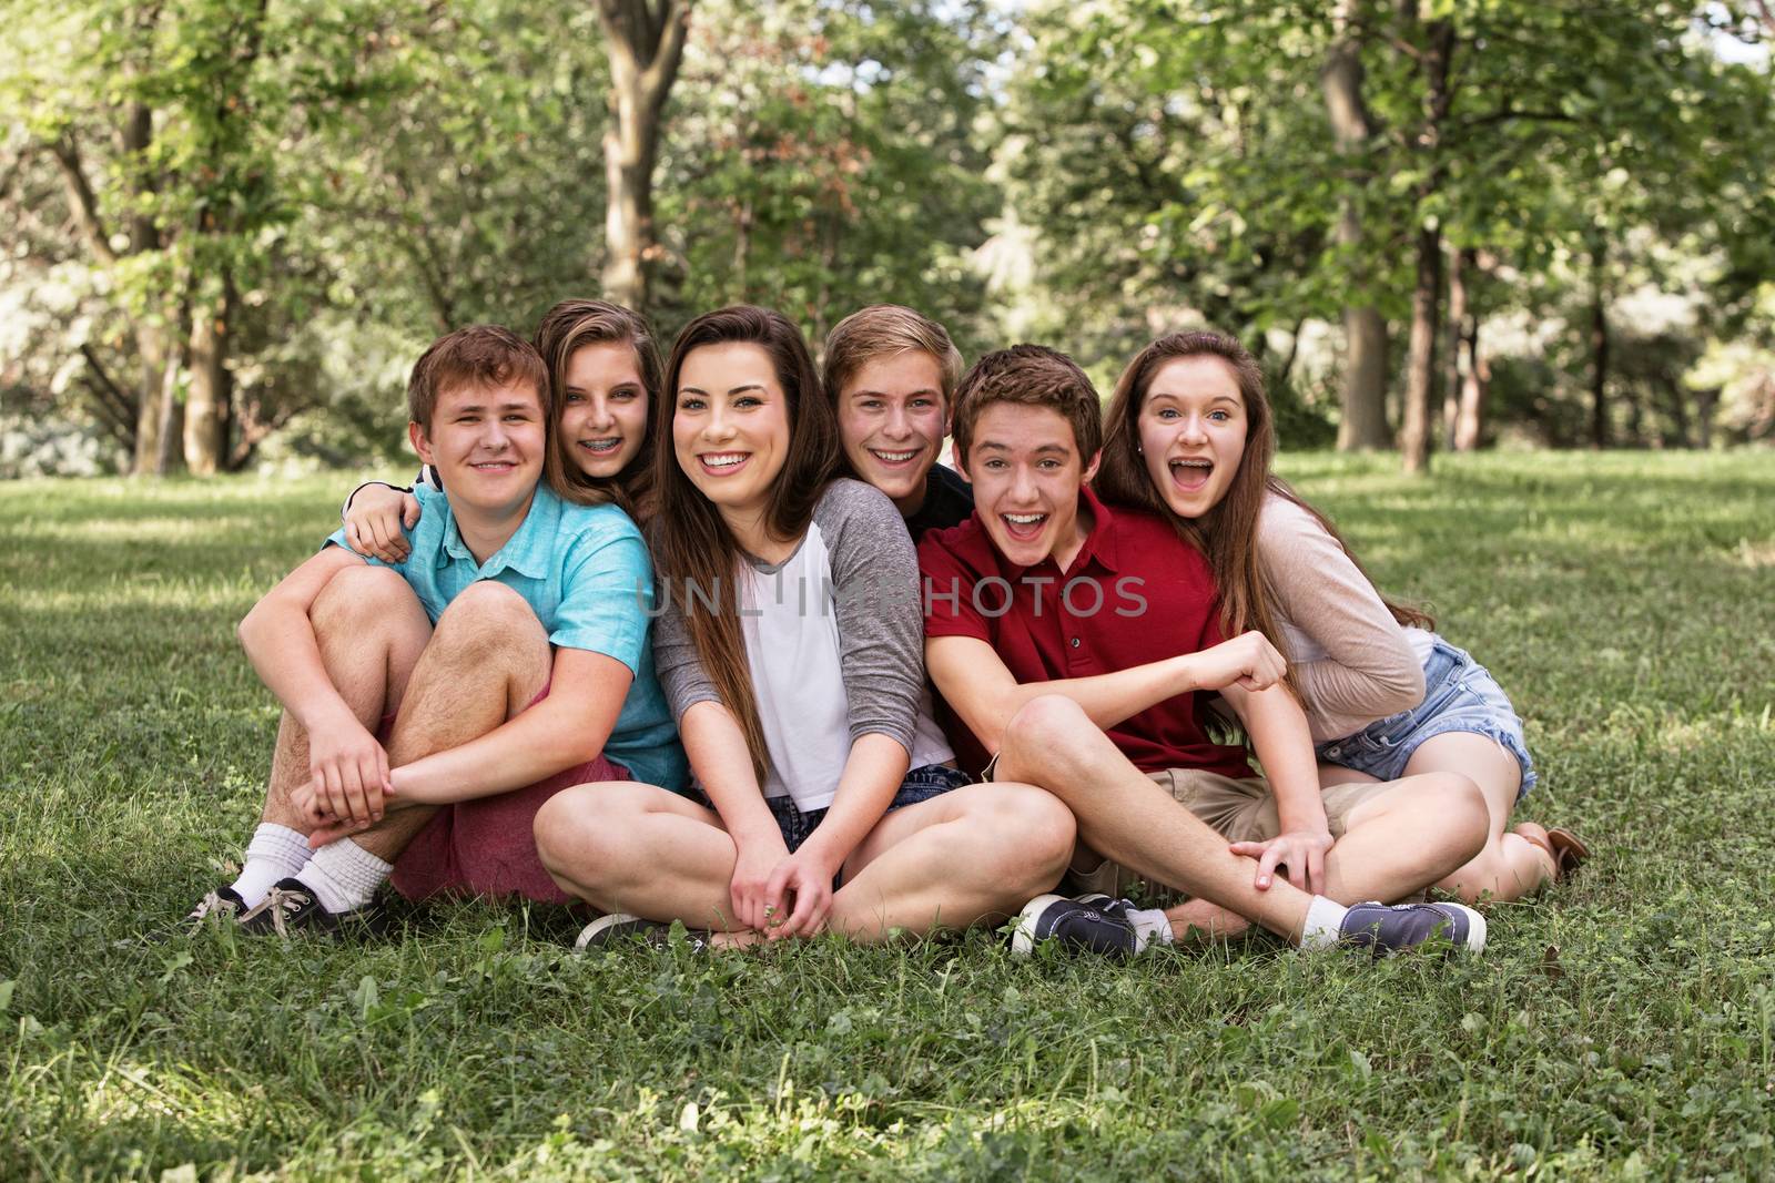
[{"label": "open-mouthed face of the girl at far right", "polygon": [[1239,475],[1250,431],[1232,365],[1218,356],[1166,362],[1136,422],[1147,475],[1179,518],[1214,509]]}]

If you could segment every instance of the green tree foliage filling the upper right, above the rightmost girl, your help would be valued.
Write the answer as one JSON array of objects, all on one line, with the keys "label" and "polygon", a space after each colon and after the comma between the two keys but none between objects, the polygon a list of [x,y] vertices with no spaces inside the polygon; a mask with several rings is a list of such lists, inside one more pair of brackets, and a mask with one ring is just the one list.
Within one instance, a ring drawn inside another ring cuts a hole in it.
[{"label": "green tree foliage filling the upper right, above the rightmost girl", "polygon": [[[1447,250],[1516,278],[1470,293],[1471,356],[1484,317],[1528,309],[1550,280],[1582,286],[1590,255],[1605,278],[1615,262],[1647,271],[1617,259],[1647,241],[1637,227],[1724,261],[1722,321],[1768,275],[1766,55],[1722,55],[1722,39],[1768,34],[1729,5],[1102,0],[1037,5],[1026,32],[999,168],[1033,231],[1040,323],[1083,323],[1125,356],[1154,328],[1205,321],[1266,353],[1271,330],[1377,307],[1413,323],[1393,367],[1408,466],[1432,435]],[[1342,44],[1360,50],[1372,135],[1337,151],[1321,83]],[[1589,287],[1605,305],[1606,284]],[[1608,339],[1596,323],[1569,325],[1592,355]],[[1283,349],[1273,374],[1292,369]]]}]

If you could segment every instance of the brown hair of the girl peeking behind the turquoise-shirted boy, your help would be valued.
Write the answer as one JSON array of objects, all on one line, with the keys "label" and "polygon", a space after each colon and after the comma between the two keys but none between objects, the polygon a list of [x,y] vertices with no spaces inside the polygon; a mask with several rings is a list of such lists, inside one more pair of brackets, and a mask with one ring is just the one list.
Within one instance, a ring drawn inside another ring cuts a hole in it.
[{"label": "brown hair of the girl peeking behind the turquoise-shirted boy", "polygon": [[[641,385],[650,399],[648,424],[653,424],[653,404],[662,396],[662,365],[653,326],[639,312],[632,312],[604,300],[563,300],[543,314],[536,325],[536,351],[543,355],[548,367],[548,385],[554,392],[554,408],[566,406],[566,367],[573,355],[586,346],[625,344],[635,351],[635,367],[641,371]],[[580,505],[600,505],[616,502],[634,518],[648,518],[653,513],[653,454],[648,442],[641,442],[641,450],[623,465],[614,477],[588,477],[573,463],[573,445],[559,431],[559,424],[550,420],[548,433],[554,443],[543,459],[543,479],[561,498]]]}]

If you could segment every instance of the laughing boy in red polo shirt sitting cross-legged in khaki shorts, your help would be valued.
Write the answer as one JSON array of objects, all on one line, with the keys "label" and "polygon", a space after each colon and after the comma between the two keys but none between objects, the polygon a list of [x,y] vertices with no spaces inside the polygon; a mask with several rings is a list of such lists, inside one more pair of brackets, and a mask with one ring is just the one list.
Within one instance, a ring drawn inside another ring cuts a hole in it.
[{"label": "laughing boy in red polo shirt sitting cross-legged in khaki shorts", "polygon": [[[1209,566],[1164,520],[1095,498],[1100,443],[1097,392],[1065,355],[1015,346],[967,372],[955,458],[976,507],[919,544],[925,656],[955,738],[1072,809],[1074,881],[1115,892],[1138,876],[1193,899],[1163,912],[1040,896],[1014,947],[1056,936],[1127,956],[1257,922],[1312,949],[1438,933],[1484,949],[1471,908],[1356,903],[1411,896],[1471,858],[1479,787],[1425,775],[1321,791],[1282,654],[1262,633],[1221,637]],[[1264,777],[1211,736],[1214,692]]]}]

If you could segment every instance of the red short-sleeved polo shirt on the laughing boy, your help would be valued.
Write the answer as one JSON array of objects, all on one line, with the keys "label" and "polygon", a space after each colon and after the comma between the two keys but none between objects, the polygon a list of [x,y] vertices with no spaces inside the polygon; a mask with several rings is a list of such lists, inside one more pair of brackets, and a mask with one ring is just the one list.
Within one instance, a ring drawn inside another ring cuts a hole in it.
[{"label": "red short-sleeved polo shirt on the laughing boy", "polygon": [[[1092,530],[1067,571],[1053,559],[1015,566],[992,544],[978,513],[925,534],[918,546],[925,635],[987,642],[1022,685],[1109,674],[1223,640],[1209,564],[1168,521],[1125,505],[1111,511],[1090,486],[1079,491],[1085,511]],[[1250,777],[1242,747],[1209,741],[1205,697],[1166,699],[1108,734],[1141,772],[1205,768]],[[946,704],[944,713],[962,763],[983,764],[983,747],[967,743],[967,725]]]}]

